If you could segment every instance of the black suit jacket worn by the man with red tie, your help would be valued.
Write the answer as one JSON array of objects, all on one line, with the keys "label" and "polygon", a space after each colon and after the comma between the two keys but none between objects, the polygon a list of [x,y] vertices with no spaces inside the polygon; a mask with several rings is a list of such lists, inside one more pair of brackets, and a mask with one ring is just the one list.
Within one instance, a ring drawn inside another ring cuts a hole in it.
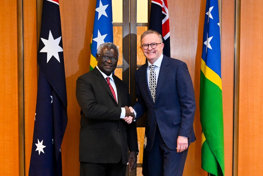
[{"label": "black suit jacket worn by the man with red tie", "polygon": [[130,106],[128,87],[113,75],[118,104],[97,68],[77,79],[76,97],[81,107],[79,159],[90,163],[128,161],[128,148],[138,151],[136,124],[120,119],[121,107]]}]

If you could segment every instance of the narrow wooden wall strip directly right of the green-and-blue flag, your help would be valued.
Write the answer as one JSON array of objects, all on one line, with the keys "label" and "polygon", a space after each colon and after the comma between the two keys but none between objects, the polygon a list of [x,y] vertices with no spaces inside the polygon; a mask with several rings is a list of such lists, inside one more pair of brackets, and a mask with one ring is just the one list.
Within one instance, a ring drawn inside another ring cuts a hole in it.
[{"label": "narrow wooden wall strip directly right of the green-and-blue flag", "polygon": [[232,175],[234,112],[235,1],[222,0],[221,75],[224,119],[225,175]]}]

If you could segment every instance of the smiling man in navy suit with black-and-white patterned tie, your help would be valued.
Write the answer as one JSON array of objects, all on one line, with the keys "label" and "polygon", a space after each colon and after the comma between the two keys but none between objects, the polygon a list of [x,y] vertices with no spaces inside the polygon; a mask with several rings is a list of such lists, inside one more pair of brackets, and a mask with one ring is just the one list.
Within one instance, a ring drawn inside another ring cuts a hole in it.
[{"label": "smiling man in navy suit with black-and-white patterned tie", "polygon": [[181,176],[188,146],[195,141],[196,102],[185,62],[163,55],[162,36],[147,30],[141,50],[147,63],[135,72],[136,119],[147,111],[146,139],[150,176]]}]

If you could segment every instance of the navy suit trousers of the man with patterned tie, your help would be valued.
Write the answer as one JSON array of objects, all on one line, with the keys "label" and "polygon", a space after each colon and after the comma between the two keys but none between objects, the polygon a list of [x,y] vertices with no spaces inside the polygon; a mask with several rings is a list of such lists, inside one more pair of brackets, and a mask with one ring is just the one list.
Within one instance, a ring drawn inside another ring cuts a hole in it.
[{"label": "navy suit trousers of the man with patterned tie", "polygon": [[[176,136],[174,137],[177,140]],[[148,169],[150,176],[182,176],[188,148],[177,153],[169,149],[160,134],[158,126],[153,142],[153,148],[148,151]]]}]

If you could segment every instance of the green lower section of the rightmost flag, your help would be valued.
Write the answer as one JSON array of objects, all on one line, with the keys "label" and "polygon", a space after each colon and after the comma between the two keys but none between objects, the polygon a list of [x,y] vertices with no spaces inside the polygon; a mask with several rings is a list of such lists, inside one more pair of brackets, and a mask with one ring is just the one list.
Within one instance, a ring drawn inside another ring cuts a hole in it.
[{"label": "green lower section of the rightmost flag", "polygon": [[222,90],[208,80],[202,71],[200,121],[206,139],[202,145],[202,168],[214,175],[224,175],[222,173],[225,170]]}]

